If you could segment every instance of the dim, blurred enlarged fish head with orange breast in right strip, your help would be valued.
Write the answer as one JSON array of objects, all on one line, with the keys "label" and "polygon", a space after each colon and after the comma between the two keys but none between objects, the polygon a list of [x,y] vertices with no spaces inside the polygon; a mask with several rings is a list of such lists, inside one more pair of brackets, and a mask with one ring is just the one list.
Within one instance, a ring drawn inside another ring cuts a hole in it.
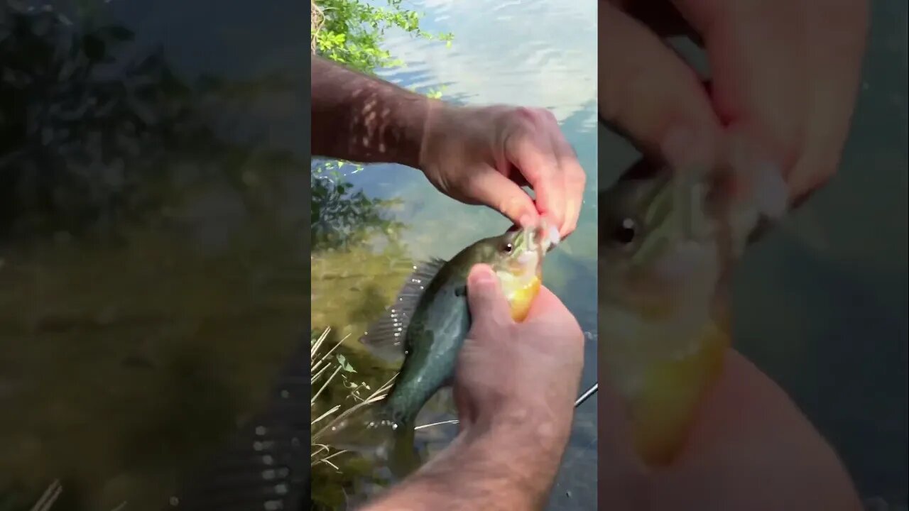
[{"label": "dim, blurred enlarged fish head with orange breast in right strip", "polygon": [[600,364],[647,466],[672,463],[720,375],[731,271],[782,215],[782,179],[644,158],[598,195]]}]

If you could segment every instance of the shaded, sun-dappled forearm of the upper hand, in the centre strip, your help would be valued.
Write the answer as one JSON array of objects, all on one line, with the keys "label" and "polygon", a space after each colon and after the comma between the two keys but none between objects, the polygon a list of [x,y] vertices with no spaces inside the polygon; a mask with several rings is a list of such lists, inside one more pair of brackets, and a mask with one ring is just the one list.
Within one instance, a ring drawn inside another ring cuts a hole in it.
[{"label": "shaded, sun-dappled forearm of the upper hand, in the centre strip", "polygon": [[442,102],[313,56],[313,155],[420,168]]}]

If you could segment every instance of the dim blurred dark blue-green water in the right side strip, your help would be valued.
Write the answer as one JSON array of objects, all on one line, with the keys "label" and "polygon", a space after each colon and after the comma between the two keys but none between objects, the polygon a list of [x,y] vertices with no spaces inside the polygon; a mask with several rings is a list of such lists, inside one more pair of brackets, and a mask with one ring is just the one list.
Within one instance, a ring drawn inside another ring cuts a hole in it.
[{"label": "dim blurred dark blue-green water in the right side strip", "polygon": [[[834,446],[861,495],[904,509],[907,7],[872,7],[842,164],[746,254],[734,283],[733,338]],[[599,154],[601,186],[637,158],[605,130]]]}]

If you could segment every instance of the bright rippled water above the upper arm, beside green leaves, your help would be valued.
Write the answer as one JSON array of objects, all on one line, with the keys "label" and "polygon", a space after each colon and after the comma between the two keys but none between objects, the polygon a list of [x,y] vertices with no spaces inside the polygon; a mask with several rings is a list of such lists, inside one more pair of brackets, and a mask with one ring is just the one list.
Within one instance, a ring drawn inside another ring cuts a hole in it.
[{"label": "bright rippled water above the upper arm, beside green leaves", "polygon": [[[594,2],[534,1],[423,2],[430,11],[427,30],[454,33],[454,44],[391,34],[387,47],[406,63],[407,72],[419,70],[413,84],[440,83],[447,98],[471,104],[507,103],[543,106],[559,121],[584,115],[584,129],[595,126],[589,101],[596,95]],[[435,9],[441,9],[438,15]],[[395,80],[403,70],[383,74]]]}]

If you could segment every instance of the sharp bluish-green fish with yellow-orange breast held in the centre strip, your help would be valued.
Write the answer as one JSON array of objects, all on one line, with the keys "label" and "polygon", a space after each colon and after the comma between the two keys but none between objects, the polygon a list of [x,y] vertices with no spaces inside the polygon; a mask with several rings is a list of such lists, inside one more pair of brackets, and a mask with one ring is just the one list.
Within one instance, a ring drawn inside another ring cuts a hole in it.
[{"label": "sharp bluish-green fish with yellow-orange breast held in the centre strip", "polygon": [[[511,316],[520,322],[542,286],[544,257],[559,241],[558,230],[542,222],[476,241],[448,261],[433,258],[415,266],[395,304],[360,339],[375,353],[404,352],[376,423],[395,429],[398,446],[412,448],[416,416],[454,376],[471,326],[466,287],[471,268],[477,264],[493,268]],[[405,465],[398,472],[409,472],[415,462]]]}]

